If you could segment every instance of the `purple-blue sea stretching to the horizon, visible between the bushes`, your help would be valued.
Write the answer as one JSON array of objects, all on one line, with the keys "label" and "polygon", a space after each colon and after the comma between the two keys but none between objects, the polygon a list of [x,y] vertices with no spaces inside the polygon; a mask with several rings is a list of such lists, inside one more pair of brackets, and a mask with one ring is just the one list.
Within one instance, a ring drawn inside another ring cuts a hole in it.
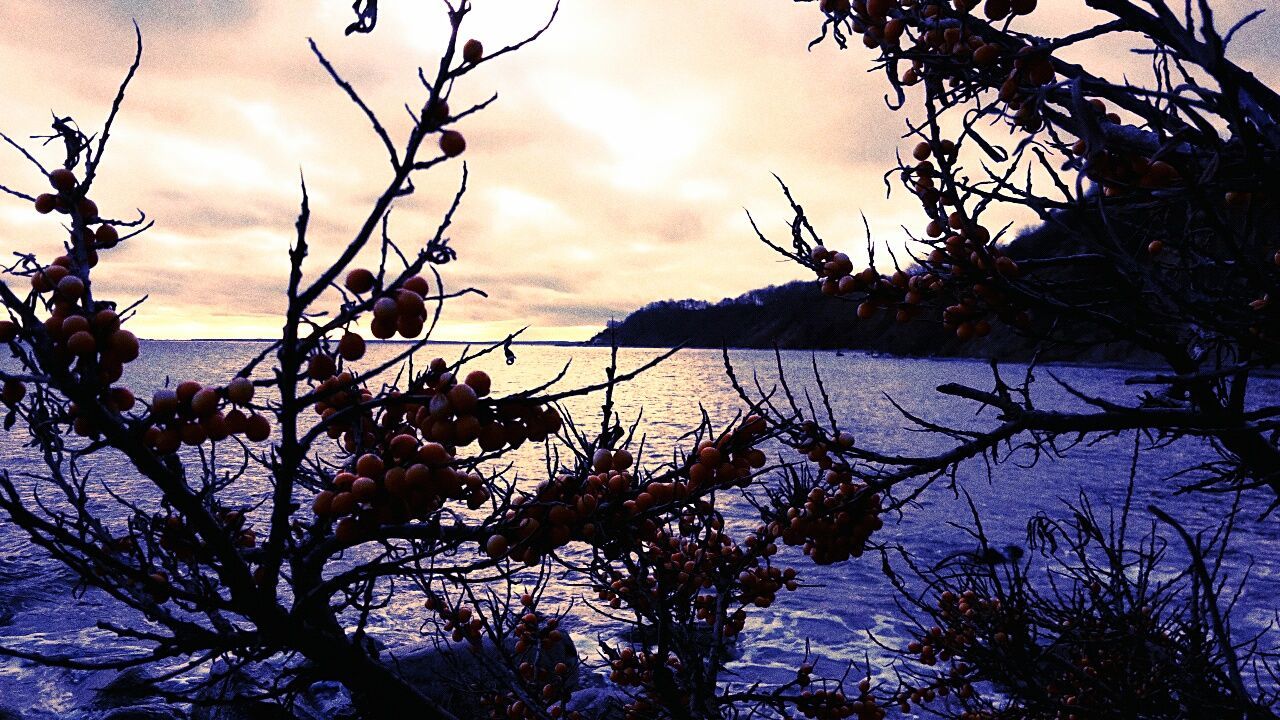
[{"label": "purple-blue sea stretching to the horizon, visible between the bushes", "polygon": [[[454,360],[483,346],[431,343],[420,350],[415,363],[425,365],[434,356]],[[251,357],[261,352],[260,342],[232,341],[147,341],[142,359],[127,369],[124,383],[140,397],[164,384],[193,379],[225,383]],[[367,363],[392,357],[402,345],[371,345]],[[502,396],[561,379],[552,389],[590,386],[605,379],[611,364],[608,347],[556,345],[515,345],[513,361],[502,351],[490,352],[468,369],[485,369],[494,379],[494,395]],[[663,351],[622,348],[617,351],[618,373],[639,368]],[[786,378],[797,402],[813,404],[823,415],[815,375],[822,378],[831,409],[844,429],[852,432],[860,446],[886,454],[922,454],[946,446],[946,438],[920,432],[904,415],[909,413],[929,421],[972,429],[991,428],[997,420],[989,407],[940,395],[942,383],[966,383],[980,389],[992,387],[992,368],[986,361],[901,359],[860,352],[809,352],[732,350],[727,354],[739,380],[753,392],[769,392]],[[270,364],[268,364],[269,369]],[[1106,366],[1037,366],[1029,375],[1025,365],[1001,365],[1009,383],[1030,378],[1032,397],[1044,409],[1085,410],[1075,393],[1106,397],[1116,402],[1134,401],[1149,386],[1125,384],[1125,379],[1147,370]],[[1070,388],[1070,389],[1069,389]],[[675,356],[621,384],[613,396],[614,410],[626,427],[636,424],[644,438],[640,462],[669,460],[681,447],[687,450],[689,433],[703,418],[717,425],[739,415],[744,404],[726,373],[726,355],[718,350],[682,350]],[[1261,378],[1253,384],[1249,405],[1280,401],[1280,380]],[[563,407],[581,427],[599,427],[603,393],[570,397]],[[1103,518],[1115,516],[1124,505],[1130,469],[1134,474],[1134,516],[1129,523],[1140,534],[1152,527],[1148,505],[1156,505],[1192,532],[1212,533],[1226,518],[1236,498],[1231,495],[1184,493],[1179,488],[1189,477],[1180,470],[1211,461],[1213,450],[1199,439],[1172,443],[1138,438],[1137,465],[1132,465],[1135,437],[1123,433],[1105,438],[1062,438],[1055,452],[1033,457],[1029,451],[1001,454],[1000,464],[982,460],[960,466],[954,486],[937,483],[927,488],[901,512],[886,515],[884,528],[874,541],[888,547],[909,548],[928,566],[957,552],[972,552],[975,541],[970,500],[980,516],[991,544],[997,548],[1028,544],[1027,524],[1037,514],[1070,518],[1070,503],[1087,493]],[[0,434],[0,469],[26,478],[27,487],[38,489],[42,460],[28,446],[29,437],[19,424]],[[780,447],[771,447],[771,460],[796,460]],[[520,483],[536,484],[547,477],[547,448],[526,445],[507,459],[509,474]],[[1034,462],[1033,462],[1034,460]],[[100,502],[104,521],[123,527],[124,514],[110,502],[108,489],[128,493],[143,480],[119,460],[102,456],[92,468],[90,492]],[[247,482],[255,482],[251,471]],[[256,475],[257,487],[265,487]],[[1280,597],[1280,518],[1262,518],[1274,497],[1268,491],[1252,491],[1239,498],[1239,518],[1228,552],[1222,578],[1234,587],[1248,573],[1248,582],[1231,612],[1231,632],[1238,641],[1260,637],[1260,646],[1280,646],[1270,632],[1277,619]],[[751,527],[754,507],[730,500],[726,511],[732,527]],[[251,523],[259,520],[250,515]],[[259,524],[261,527],[261,524]],[[1164,533],[1174,539],[1171,533]],[[1175,577],[1185,560],[1176,543],[1170,544],[1167,577]],[[878,553],[833,566],[815,566],[795,548],[785,548],[776,562],[795,566],[801,587],[781,592],[768,609],[749,614],[742,639],[727,666],[731,684],[786,683],[795,678],[796,666],[806,657],[818,661],[822,674],[841,674],[850,664],[869,661],[874,673],[887,673],[884,647],[905,647],[913,626],[899,609],[901,597],[886,580]],[[517,575],[516,583],[529,582]],[[626,642],[620,628],[593,610],[590,591],[573,578],[557,577],[548,591],[545,610],[567,612],[564,626],[571,633],[588,669],[600,667],[599,646]],[[369,633],[389,648],[412,647],[424,642],[426,611],[422,597],[404,588],[369,619]],[[122,612],[104,592],[84,587],[60,564],[33,547],[24,534],[0,512],[0,646],[24,653],[68,657],[124,657],[140,646],[99,629],[99,621],[137,621]],[[352,619],[355,623],[355,619]],[[860,671],[860,670],[856,670]],[[856,673],[855,671],[855,673]],[[46,667],[17,657],[0,657],[0,708],[20,717],[76,716],[91,702],[92,692],[108,682],[100,671]],[[3,712],[0,712],[3,715]]]}]

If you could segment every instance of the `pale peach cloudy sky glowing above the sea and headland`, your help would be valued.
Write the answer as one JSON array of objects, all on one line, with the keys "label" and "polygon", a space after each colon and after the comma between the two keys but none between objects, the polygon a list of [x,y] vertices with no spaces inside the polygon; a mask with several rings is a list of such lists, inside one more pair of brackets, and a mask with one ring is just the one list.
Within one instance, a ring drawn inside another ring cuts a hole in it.
[{"label": "pale peach cloudy sky glowing above the sea and headland", "polygon": [[[1041,5],[1038,22],[1055,32],[1091,19],[1076,0]],[[1260,6],[1213,5],[1226,19]],[[462,35],[493,49],[540,27],[552,3],[475,6]],[[147,295],[131,323],[142,337],[275,337],[300,174],[312,274],[389,176],[364,115],[307,40],[403,140],[403,106],[424,97],[417,68],[434,67],[445,37],[442,6],[383,0],[374,33],[344,37],[349,0],[6,1],[0,129],[28,138],[47,132],[51,113],[101,127],[132,60],[133,20],[142,68],[95,200],[104,215],[141,208],[156,224],[104,254],[96,293],[124,304]],[[920,224],[919,205],[901,190],[886,197],[882,176],[908,146],[909,115],[886,108],[883,77],[865,72],[869,53],[808,51],[819,26],[815,4],[788,0],[563,0],[538,42],[468,74],[454,108],[494,92],[498,102],[458,126],[463,158],[419,176],[390,222],[402,247],[420,246],[466,160],[470,190],[449,233],[458,260],[442,274],[449,290],[488,297],[449,304],[438,337],[498,338],[529,325],[529,340],[585,340],[657,300],[718,300],[803,278],[746,219],[750,210],[786,237],[790,210],[773,173],[828,245],[863,247],[864,215],[877,241],[901,245],[901,227]],[[1262,18],[1242,35],[1236,59],[1274,73],[1277,32],[1276,18]],[[1088,59],[1120,72],[1124,50]],[[37,151],[56,161],[55,150]],[[0,183],[44,191],[5,147]],[[61,240],[56,218],[0,197],[6,255],[47,260]]]}]

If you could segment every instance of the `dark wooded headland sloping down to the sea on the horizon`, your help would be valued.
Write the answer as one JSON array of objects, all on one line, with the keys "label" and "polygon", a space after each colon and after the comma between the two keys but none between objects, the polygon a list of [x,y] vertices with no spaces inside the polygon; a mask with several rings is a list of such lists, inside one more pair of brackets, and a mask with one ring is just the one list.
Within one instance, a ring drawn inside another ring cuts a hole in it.
[{"label": "dark wooded headland sloping down to the sea on the horizon", "polygon": [[[1070,245],[1061,231],[1041,228],[1011,242],[1006,252],[1015,259],[1061,254]],[[625,320],[614,322],[591,338],[593,345],[609,345],[616,336],[620,346],[672,347],[753,347],[813,350],[864,350],[916,357],[995,357],[1006,361],[1029,360],[1036,342],[1004,325],[992,323],[992,333],[980,340],[959,341],[942,328],[938,313],[927,313],[906,323],[896,323],[892,313],[881,311],[869,320],[856,318],[856,304],[822,295],[817,281],[797,281],[783,286],[754,290],[719,302],[695,300],[662,301],[646,305]],[[1048,328],[1041,318],[1032,331]],[[1148,364],[1155,359],[1128,343],[1046,345],[1042,360],[1079,363]]]}]

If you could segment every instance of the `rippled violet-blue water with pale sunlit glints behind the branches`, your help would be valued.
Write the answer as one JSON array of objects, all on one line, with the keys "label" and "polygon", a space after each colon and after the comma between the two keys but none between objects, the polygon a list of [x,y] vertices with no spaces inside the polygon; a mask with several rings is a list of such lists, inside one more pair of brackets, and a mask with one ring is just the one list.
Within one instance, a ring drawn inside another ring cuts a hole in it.
[{"label": "rippled violet-blue water with pale sunlit glints behind the branches", "polygon": [[[261,348],[247,342],[147,342],[143,360],[129,368],[125,382],[146,396],[150,389],[164,384],[170,375],[174,382],[196,379],[209,383],[225,382],[243,363]],[[371,360],[389,356],[394,346],[371,346]],[[440,345],[433,354],[454,357],[461,346]],[[494,377],[494,393],[502,395],[540,384],[570,364],[562,384],[564,387],[595,383],[604,378],[609,351],[594,347],[517,346],[517,363],[507,366],[500,354],[486,356],[471,366],[488,369]],[[657,356],[654,350],[622,350],[620,365],[632,368]],[[763,387],[771,387],[777,378],[772,352],[735,351],[732,354],[739,377],[750,383],[758,377]],[[782,363],[795,389],[801,393],[812,387],[813,364],[827,380],[832,393],[835,413],[842,425],[852,429],[867,446],[886,451],[920,452],[941,447],[938,439],[905,429],[905,420],[893,409],[892,397],[905,409],[931,419],[963,423],[970,427],[989,427],[992,415],[974,415],[972,404],[945,398],[934,392],[942,382],[968,382],[988,387],[991,370],[983,363],[905,360],[873,357],[859,354],[837,356],[831,352],[783,352]],[[1021,368],[1009,366],[1007,378],[1021,375]],[[1129,397],[1137,391],[1123,382],[1129,374],[1121,369],[1059,366],[1037,370],[1034,384],[1041,406],[1080,409],[1082,404],[1057,386],[1050,377],[1056,374],[1079,389],[1110,397]],[[1260,380],[1251,398],[1254,404],[1275,402],[1280,398],[1280,382]],[[643,409],[643,432],[646,436],[646,455],[668,457],[680,436],[691,429],[699,418],[699,407],[713,420],[731,419],[741,404],[724,374],[723,359],[718,351],[689,350],[643,374],[617,392],[617,406],[625,421]],[[584,424],[599,423],[599,396],[567,401],[567,407]],[[817,402],[817,398],[815,398]],[[20,428],[19,428],[20,429]],[[12,473],[32,469],[38,460],[31,448],[23,447],[26,437],[17,432],[0,436],[0,457]],[[1103,441],[1092,448],[1076,448],[1064,459],[1043,459],[1032,469],[1015,462],[996,468],[988,478],[980,462],[972,462],[960,473],[961,484],[972,495],[982,512],[988,537],[995,546],[1021,544],[1025,541],[1025,523],[1039,510],[1060,512],[1062,502],[1074,500],[1083,488],[1098,505],[1119,506],[1129,471],[1129,454],[1133,437]],[[1161,482],[1170,473],[1208,459],[1207,450],[1196,442],[1144,452],[1138,465],[1137,507],[1155,502],[1179,518],[1189,528],[1211,528],[1229,510],[1230,500],[1221,496],[1172,493],[1174,486]],[[1016,457],[1015,457],[1016,459]],[[539,448],[522,448],[516,460],[516,470],[529,479],[545,474]],[[133,475],[124,465],[109,460],[95,468],[101,482],[119,487]],[[1242,605],[1236,611],[1236,632],[1245,637],[1263,628],[1275,618],[1280,597],[1280,527],[1275,519],[1256,521],[1268,498],[1261,493],[1247,498],[1245,520],[1242,523],[1229,560],[1229,569],[1238,574],[1248,560],[1256,561],[1253,575]],[[104,505],[104,512],[115,510]],[[750,521],[750,507],[740,503],[731,511],[731,520]],[[877,539],[901,543],[922,553],[925,560],[938,560],[956,551],[970,550],[972,541],[951,523],[966,523],[969,509],[942,487],[924,493],[915,507],[900,519],[888,519]],[[750,615],[746,642],[733,670],[744,679],[786,682],[794,678],[794,669],[809,641],[818,657],[860,660],[864,653],[873,656],[876,648],[868,642],[869,630],[895,639],[902,629],[895,620],[892,591],[887,587],[877,559],[867,557],[835,568],[814,568],[803,557],[788,557],[801,570],[808,584],[794,593],[783,593],[768,610]],[[128,648],[115,641],[106,642],[106,634],[93,629],[100,619],[118,618],[111,601],[95,591],[73,593],[74,578],[60,566],[42,557],[9,524],[0,521],[0,643],[24,651],[67,652],[70,655],[118,653]],[[575,600],[575,588],[559,587],[554,600]],[[419,597],[406,597],[389,605],[371,624],[388,644],[397,646],[420,639],[421,602]],[[582,603],[576,603],[570,629],[584,655],[594,655],[598,635],[611,635],[611,628],[602,618],[593,615]],[[13,707],[35,716],[64,716],[81,705],[91,685],[101,682],[93,674],[33,667],[19,660],[0,660],[0,707]]]}]

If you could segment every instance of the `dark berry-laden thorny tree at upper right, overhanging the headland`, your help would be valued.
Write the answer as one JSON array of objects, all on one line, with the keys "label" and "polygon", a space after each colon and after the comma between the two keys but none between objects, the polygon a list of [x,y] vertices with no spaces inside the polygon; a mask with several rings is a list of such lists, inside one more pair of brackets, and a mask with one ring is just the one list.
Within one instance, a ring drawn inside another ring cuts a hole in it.
[{"label": "dark berry-laden thorny tree at upper right, overhanging the headland", "polygon": [[[1165,3],[1151,5],[1091,1],[1114,19],[1046,40],[1015,29],[1034,1],[995,0],[982,15],[968,1],[823,3],[824,36],[845,46],[854,32],[879,50],[896,106],[923,86],[925,119],[908,135],[918,143],[893,174],[928,215],[919,238],[928,252],[913,258],[911,274],[854,273],[847,255],[822,246],[794,201],[790,247],[765,242],[815,270],[826,292],[859,301],[860,315],[890,310],[906,322],[937,306],[961,338],[983,337],[997,319],[1044,341],[1123,338],[1170,370],[1135,378],[1166,388],[1158,397],[1132,407],[1088,398],[1098,409],[1089,414],[1037,410],[1004,384],[993,392],[947,386],[942,392],[997,407],[1007,423],[906,466],[904,479],[1023,433],[1151,429],[1220,443],[1221,471],[1201,487],[1280,491],[1280,455],[1266,437],[1271,415],[1243,410],[1253,373],[1276,352],[1267,293],[1280,245],[1268,222],[1280,95],[1225,56],[1235,31],[1258,13],[1222,36],[1207,3],[1185,19]],[[1055,56],[1133,31],[1149,45],[1153,87],[1110,82]],[[1014,128],[1014,147],[987,140],[982,120]],[[1075,251],[1005,258],[1001,233],[982,220],[1002,205],[1060,225]],[[1047,320],[1033,325],[1036,316]]]}]

